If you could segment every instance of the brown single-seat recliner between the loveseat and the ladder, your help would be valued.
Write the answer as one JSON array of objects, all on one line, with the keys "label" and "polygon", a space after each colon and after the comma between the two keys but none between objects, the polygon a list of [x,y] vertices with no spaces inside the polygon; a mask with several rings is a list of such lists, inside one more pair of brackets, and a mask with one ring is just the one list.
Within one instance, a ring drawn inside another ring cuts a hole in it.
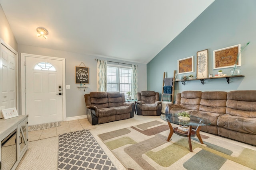
[{"label": "brown single-seat recliner between the loveseat and the ladder", "polygon": [[161,115],[162,104],[159,101],[159,93],[154,91],[142,91],[137,93],[136,109],[138,115]]}]

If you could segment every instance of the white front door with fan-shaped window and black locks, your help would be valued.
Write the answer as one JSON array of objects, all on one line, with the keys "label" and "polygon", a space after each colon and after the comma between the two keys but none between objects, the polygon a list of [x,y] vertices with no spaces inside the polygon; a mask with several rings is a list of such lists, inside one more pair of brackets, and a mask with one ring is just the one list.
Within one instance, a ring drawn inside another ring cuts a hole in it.
[{"label": "white front door with fan-shaped window and black locks", "polygon": [[29,125],[63,121],[62,62],[25,56],[26,114]]}]

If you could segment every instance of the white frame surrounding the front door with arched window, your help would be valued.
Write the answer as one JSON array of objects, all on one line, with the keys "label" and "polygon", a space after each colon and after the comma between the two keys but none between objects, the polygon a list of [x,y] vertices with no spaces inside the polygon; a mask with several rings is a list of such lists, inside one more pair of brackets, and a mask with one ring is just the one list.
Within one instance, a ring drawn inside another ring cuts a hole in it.
[{"label": "white frame surrounding the front door with arched window", "polygon": [[63,92],[63,121],[66,121],[66,80],[65,80],[65,59],[58,57],[49,57],[43,55],[34,55],[34,54],[26,54],[20,53],[20,68],[21,68],[21,113],[22,115],[26,115],[26,80],[25,80],[25,56],[42,58],[42,59],[52,59],[52,60],[60,60],[62,61],[62,92]]}]

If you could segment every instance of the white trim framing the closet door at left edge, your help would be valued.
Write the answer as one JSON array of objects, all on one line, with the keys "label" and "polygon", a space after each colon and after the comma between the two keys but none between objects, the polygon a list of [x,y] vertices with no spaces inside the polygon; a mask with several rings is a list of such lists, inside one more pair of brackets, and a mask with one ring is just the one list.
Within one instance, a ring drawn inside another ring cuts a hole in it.
[{"label": "white trim framing the closet door at left edge", "polygon": [[[6,48],[8,48],[10,51],[12,51],[12,53],[14,53],[16,55],[16,109],[19,113],[19,64],[18,64],[18,52],[15,51],[10,45],[8,45],[7,43],[4,42],[4,40],[2,38],[0,38],[1,40],[1,44],[4,45]],[[0,51],[1,51],[1,47],[0,47]],[[6,108],[7,109],[7,108]]]}]

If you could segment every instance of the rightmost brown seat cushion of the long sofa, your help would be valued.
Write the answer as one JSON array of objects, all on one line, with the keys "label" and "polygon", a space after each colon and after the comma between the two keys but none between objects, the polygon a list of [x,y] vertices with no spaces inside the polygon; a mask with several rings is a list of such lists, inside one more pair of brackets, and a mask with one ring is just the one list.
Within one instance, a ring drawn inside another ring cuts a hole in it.
[{"label": "rightmost brown seat cushion of the long sofa", "polygon": [[256,118],[220,115],[217,120],[218,127],[241,133],[256,134]]}]

